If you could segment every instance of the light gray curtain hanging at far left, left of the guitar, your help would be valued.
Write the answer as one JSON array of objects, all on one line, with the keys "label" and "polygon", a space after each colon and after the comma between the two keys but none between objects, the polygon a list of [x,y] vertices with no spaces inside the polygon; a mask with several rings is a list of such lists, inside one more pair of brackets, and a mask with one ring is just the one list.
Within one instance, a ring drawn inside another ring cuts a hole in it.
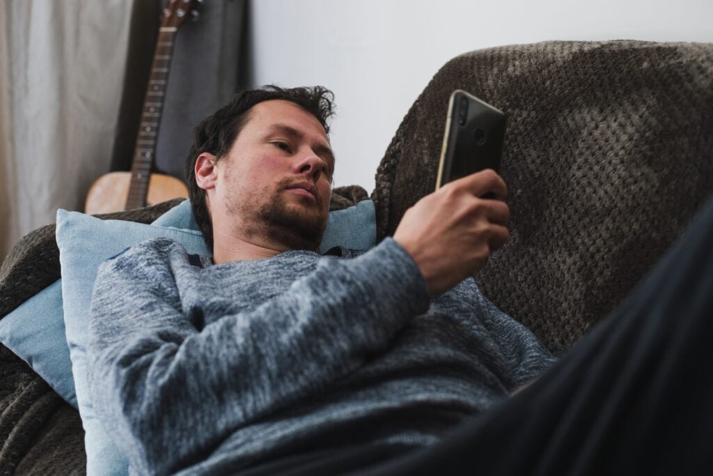
[{"label": "light gray curtain hanging at far left, left of the guitar", "polygon": [[0,0],[0,257],[108,170],[130,7]]}]

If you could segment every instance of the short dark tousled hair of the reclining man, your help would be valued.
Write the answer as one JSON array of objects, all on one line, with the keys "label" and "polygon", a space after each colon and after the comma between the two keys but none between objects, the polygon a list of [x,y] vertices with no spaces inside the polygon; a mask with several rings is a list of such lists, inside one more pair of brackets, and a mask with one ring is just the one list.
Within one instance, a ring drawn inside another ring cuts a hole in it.
[{"label": "short dark tousled hair of the reclining man", "polygon": [[185,178],[188,182],[193,216],[203,233],[208,249],[213,247],[213,227],[210,213],[205,204],[205,190],[195,181],[195,161],[201,153],[211,153],[216,161],[225,157],[235,142],[237,135],[250,119],[250,109],[262,101],[283,99],[291,101],[317,118],[329,134],[327,119],[334,113],[334,93],[322,86],[280,88],[267,85],[262,88],[237,93],[227,106],[218,109],[195,128],[193,146],[185,161]]}]

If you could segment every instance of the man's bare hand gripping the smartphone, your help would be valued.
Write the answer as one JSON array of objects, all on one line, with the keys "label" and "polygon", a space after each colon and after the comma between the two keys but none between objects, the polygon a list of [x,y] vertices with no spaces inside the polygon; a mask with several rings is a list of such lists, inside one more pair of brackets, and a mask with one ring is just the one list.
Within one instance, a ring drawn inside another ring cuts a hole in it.
[{"label": "man's bare hand gripping the smartphone", "polygon": [[510,209],[499,200],[480,198],[493,193],[504,200],[508,189],[491,170],[446,184],[409,208],[394,240],[409,252],[431,295],[443,293],[488,261],[491,251],[508,238]]}]

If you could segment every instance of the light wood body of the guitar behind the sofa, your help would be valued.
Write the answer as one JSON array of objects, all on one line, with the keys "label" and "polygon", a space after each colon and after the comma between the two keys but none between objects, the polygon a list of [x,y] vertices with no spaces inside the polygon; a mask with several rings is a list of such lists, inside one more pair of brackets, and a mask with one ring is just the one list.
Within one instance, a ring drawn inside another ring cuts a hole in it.
[{"label": "light wood body of the guitar behind the sofa", "polygon": [[[125,210],[130,183],[130,172],[104,174],[89,189],[84,213],[96,215]],[[180,197],[188,198],[188,188],[178,178],[163,173],[150,175],[146,206]]]}]

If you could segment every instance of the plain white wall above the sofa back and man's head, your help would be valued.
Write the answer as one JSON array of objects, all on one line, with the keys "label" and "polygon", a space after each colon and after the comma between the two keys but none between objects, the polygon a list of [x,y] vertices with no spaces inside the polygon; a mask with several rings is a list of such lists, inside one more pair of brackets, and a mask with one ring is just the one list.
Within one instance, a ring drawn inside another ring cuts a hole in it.
[{"label": "plain white wall above the sofa back and man's head", "polygon": [[255,84],[334,91],[334,186],[374,174],[431,77],[474,49],[545,40],[713,41],[711,0],[253,0]]}]

